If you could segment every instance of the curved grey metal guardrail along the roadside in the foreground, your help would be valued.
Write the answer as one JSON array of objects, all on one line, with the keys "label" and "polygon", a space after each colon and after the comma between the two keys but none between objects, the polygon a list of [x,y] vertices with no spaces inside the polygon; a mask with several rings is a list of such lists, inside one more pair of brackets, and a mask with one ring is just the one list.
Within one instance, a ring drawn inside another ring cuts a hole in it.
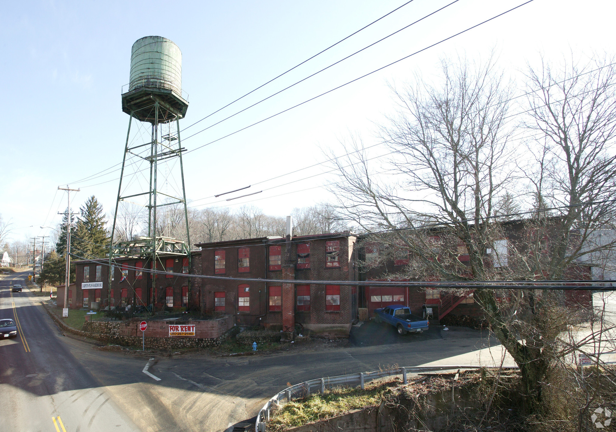
[{"label": "curved grey metal guardrail along the roadside in the foreground", "polygon": [[[357,384],[363,390],[363,386],[366,382],[375,380],[377,378],[390,377],[392,375],[402,375],[402,382],[407,383],[407,374],[416,374],[418,372],[434,372],[436,370],[453,370],[453,369],[481,369],[482,366],[469,366],[469,365],[445,365],[445,366],[407,366],[407,367],[395,367],[394,369],[376,370],[375,372],[362,372],[360,374],[339,375],[337,377],[319,378],[316,380],[310,380],[303,383],[299,383],[285,388],[274,397],[269,399],[265,405],[257,414],[257,420],[254,423],[254,430],[257,432],[265,432],[267,422],[269,422],[270,410],[272,404],[280,406],[280,401],[286,399],[287,402],[292,401],[294,398],[306,398],[310,396],[310,393],[325,393],[325,389],[343,384]],[[517,366],[503,366],[501,369],[518,369]]]}]

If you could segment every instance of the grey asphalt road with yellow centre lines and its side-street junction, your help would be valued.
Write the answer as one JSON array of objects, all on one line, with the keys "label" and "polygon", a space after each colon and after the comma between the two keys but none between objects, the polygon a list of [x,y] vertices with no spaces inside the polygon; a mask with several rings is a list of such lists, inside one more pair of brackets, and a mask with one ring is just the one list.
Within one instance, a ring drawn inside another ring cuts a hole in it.
[{"label": "grey asphalt road with yellow centre lines and its side-street junction", "polygon": [[368,322],[343,347],[322,342],[246,357],[159,356],[149,369],[156,381],[142,372],[147,353],[100,351],[63,335],[41,306],[44,297],[11,294],[9,286],[25,274],[0,280],[0,318],[16,313],[23,331],[23,342],[0,341],[0,431],[53,432],[57,416],[66,432],[222,431],[254,417],[286,383],[447,362],[488,344],[474,330],[434,328],[400,337],[391,326]]}]

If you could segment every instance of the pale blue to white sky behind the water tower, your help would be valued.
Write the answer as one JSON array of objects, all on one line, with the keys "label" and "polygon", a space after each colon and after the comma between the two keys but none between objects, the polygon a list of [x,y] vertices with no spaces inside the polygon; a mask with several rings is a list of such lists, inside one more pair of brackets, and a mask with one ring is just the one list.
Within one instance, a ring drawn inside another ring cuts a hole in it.
[{"label": "pale blue to white sky behind the water tower", "polygon": [[[328,154],[344,153],[342,142],[352,135],[361,137],[366,146],[379,142],[377,127],[394,112],[388,84],[411,82],[415,73],[435,76],[443,58],[482,61],[494,50],[499,66],[522,86],[522,72],[529,64],[537,65],[542,56],[558,62],[572,52],[614,52],[614,2],[534,0],[219,140],[524,2],[458,0],[323,73],[200,132],[451,1],[413,0],[191,127],[405,1],[4,3],[0,28],[4,82],[0,112],[5,130],[0,134],[0,215],[12,223],[12,239],[49,235],[49,228],[39,226],[56,226],[61,218],[57,212],[62,212],[67,202],[66,193],[57,190],[58,186],[80,189],[71,194],[73,209],[95,195],[107,215],[113,216],[117,165],[122,161],[129,119],[121,110],[121,88],[129,81],[131,46],[143,36],[164,36],[182,50],[182,88],[190,102],[185,119],[180,121],[182,145],[189,151],[198,148],[184,157],[188,205],[194,209],[237,209],[251,204],[277,216],[290,214],[294,207],[331,199],[323,186],[335,177],[328,173],[331,167],[319,162],[328,159]],[[135,134],[145,129],[133,123],[132,130]],[[386,148],[375,146],[371,151],[378,155],[379,151],[386,153]],[[376,159],[377,168],[378,163]],[[177,164],[161,167],[163,178],[168,179],[163,190],[177,190],[177,168]],[[283,175],[287,173],[292,174]],[[127,178],[133,179],[134,188],[144,181],[138,174]],[[213,197],[248,185],[251,188],[229,196],[262,192],[231,202],[224,201],[227,196]]]}]

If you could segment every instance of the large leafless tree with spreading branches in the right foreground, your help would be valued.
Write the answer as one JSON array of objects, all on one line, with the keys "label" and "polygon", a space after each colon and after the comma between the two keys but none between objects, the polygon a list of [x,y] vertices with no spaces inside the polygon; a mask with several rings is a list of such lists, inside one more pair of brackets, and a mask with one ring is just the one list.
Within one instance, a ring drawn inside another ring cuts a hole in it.
[{"label": "large leafless tree with spreading branches in the right foreground", "polygon": [[[574,78],[581,73],[586,73],[583,79]],[[539,142],[553,142],[548,153],[555,169],[528,167],[527,172],[543,177],[527,184],[540,185],[538,206],[554,197],[578,207],[557,218],[524,222],[516,241],[508,241],[504,225],[493,219],[502,214],[502,197],[519,187],[524,172],[516,170],[514,123],[507,121],[513,87],[492,59],[474,67],[442,62],[440,85],[416,76],[413,86],[392,89],[397,116],[381,128],[393,153],[392,175],[371,169],[357,140],[346,149],[352,156],[336,160],[342,180],[334,189],[338,210],[366,231],[389,231],[371,239],[383,259],[414,258],[397,274],[400,278],[552,280],[577,268],[585,254],[582,244],[593,226],[606,223],[610,207],[583,203],[609,198],[614,185],[616,167],[608,155],[616,124],[613,70],[569,68],[553,74],[545,68],[531,71],[529,78],[526,126],[544,135]],[[535,159],[545,161],[539,153]],[[438,228],[417,229],[427,223]],[[546,237],[555,239],[549,253],[541,250]],[[534,294],[474,292],[491,330],[521,368],[531,411],[540,407],[541,383],[558,352],[557,336],[580,319],[562,308],[562,294]]]}]

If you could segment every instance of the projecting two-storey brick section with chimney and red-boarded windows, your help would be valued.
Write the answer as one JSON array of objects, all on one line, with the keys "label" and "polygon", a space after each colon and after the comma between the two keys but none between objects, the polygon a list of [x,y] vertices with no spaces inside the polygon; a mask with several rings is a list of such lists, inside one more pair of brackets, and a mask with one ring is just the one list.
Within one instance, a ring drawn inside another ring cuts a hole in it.
[{"label": "projecting two-storey brick section with chimney and red-boarded windows", "polygon": [[[201,274],[280,282],[203,279],[205,313],[234,314],[241,325],[348,334],[357,318],[355,236],[320,234],[200,243]],[[290,247],[287,255],[287,247]],[[331,281],[314,284],[310,281]]]}]

